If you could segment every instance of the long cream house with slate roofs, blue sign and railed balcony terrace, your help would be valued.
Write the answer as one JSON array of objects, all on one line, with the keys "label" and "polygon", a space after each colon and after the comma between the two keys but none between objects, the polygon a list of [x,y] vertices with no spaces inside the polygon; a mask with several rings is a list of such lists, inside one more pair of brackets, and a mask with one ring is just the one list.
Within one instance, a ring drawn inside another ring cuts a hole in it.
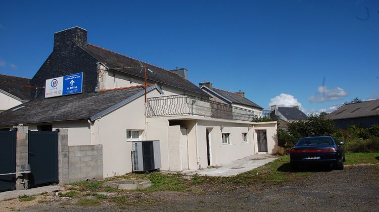
[{"label": "long cream house with slate roofs, blue sign and railed balcony terrace", "polygon": [[[30,80],[33,99],[1,113],[0,128],[65,129],[69,149],[102,149],[96,159],[102,177],[132,171],[134,140],[158,140],[161,170],[171,171],[277,151],[269,111],[243,96],[199,88],[187,74],[89,44],[80,27],[66,29],[54,34],[53,52]],[[85,157],[85,164],[68,168],[69,182],[91,177],[85,166],[96,163]]]}]

